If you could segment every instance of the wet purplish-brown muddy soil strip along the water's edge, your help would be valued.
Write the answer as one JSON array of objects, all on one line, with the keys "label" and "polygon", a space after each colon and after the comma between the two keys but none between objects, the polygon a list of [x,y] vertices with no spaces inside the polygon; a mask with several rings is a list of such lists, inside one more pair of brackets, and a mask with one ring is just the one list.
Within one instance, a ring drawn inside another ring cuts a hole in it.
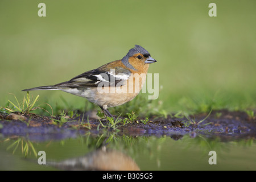
[{"label": "wet purplish-brown muddy soil strip along the water's edge", "polygon": [[[174,140],[181,139],[188,134],[191,138],[197,135],[204,135],[207,138],[220,138],[223,141],[239,139],[251,139],[256,137],[256,118],[250,118],[243,111],[218,110],[212,111],[204,122],[199,121],[207,117],[207,114],[196,114],[191,116],[195,124],[188,125],[186,118],[159,118],[152,116],[144,125],[139,118],[138,121],[123,125],[117,124],[117,129],[108,128],[108,121],[102,121],[105,127],[95,117],[89,118],[85,115],[82,122],[82,114],[79,117],[69,118],[68,122],[56,122],[51,118],[42,115],[19,113],[0,114],[0,135],[3,137],[24,136],[30,140],[60,140],[65,138],[76,138],[90,132],[98,135],[106,131],[117,132],[118,135],[129,136],[170,136]],[[90,127],[90,129],[89,129]]]}]

